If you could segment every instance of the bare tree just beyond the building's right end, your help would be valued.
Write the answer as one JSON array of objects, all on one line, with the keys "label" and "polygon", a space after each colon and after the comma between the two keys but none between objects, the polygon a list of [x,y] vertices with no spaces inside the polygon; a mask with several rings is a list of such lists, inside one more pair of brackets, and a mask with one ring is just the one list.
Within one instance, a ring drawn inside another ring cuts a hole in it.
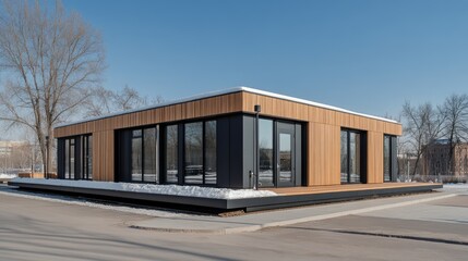
[{"label": "bare tree just beyond the building's right end", "polygon": [[403,107],[401,116],[405,120],[404,135],[407,145],[416,156],[412,170],[412,175],[415,175],[425,146],[441,137],[445,115],[434,110],[429,102],[411,107],[407,101]]}]

